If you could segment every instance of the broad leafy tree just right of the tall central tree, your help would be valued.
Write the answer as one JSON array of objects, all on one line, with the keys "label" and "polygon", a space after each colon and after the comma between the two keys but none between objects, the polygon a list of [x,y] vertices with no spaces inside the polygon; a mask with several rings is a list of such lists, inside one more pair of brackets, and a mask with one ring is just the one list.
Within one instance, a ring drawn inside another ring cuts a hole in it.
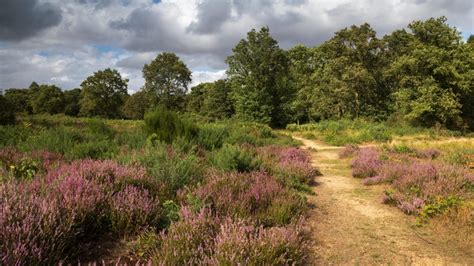
[{"label": "broad leafy tree just right of the tall central tree", "polygon": [[382,43],[369,24],[351,26],[318,48],[323,66],[313,77],[318,118],[384,117],[389,95]]}]

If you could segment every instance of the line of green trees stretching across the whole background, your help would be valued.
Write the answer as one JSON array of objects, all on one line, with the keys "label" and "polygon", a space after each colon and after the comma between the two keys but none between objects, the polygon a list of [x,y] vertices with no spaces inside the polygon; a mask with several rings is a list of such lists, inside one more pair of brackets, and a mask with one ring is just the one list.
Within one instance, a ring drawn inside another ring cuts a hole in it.
[{"label": "line of green trees stretching across the whole background", "polygon": [[234,47],[226,79],[190,93],[191,71],[174,53],[164,52],[143,67],[145,85],[131,96],[128,80],[105,69],[80,89],[36,83],[8,89],[0,96],[0,119],[12,112],[142,119],[160,105],[275,127],[367,118],[472,130],[474,36],[463,41],[446,21],[414,21],[382,38],[366,23],[342,29],[319,46],[289,50],[264,27]]}]

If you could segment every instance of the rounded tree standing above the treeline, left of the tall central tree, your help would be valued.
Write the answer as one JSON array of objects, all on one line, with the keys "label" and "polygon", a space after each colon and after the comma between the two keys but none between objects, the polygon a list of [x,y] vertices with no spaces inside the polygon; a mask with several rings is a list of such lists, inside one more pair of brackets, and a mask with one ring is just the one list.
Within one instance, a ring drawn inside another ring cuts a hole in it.
[{"label": "rounded tree standing above the treeline, left of the tall central tree", "polygon": [[145,90],[156,95],[156,104],[168,109],[184,108],[191,71],[174,53],[161,53],[143,67]]}]

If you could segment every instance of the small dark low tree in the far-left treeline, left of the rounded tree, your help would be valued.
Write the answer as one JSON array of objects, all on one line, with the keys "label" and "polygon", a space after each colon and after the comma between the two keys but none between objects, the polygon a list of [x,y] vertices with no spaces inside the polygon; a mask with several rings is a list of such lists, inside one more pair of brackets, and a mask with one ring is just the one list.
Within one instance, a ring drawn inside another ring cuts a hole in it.
[{"label": "small dark low tree in the far-left treeline, left of the rounded tree", "polygon": [[55,85],[39,85],[30,89],[30,103],[34,114],[58,114],[64,111],[64,95]]}]

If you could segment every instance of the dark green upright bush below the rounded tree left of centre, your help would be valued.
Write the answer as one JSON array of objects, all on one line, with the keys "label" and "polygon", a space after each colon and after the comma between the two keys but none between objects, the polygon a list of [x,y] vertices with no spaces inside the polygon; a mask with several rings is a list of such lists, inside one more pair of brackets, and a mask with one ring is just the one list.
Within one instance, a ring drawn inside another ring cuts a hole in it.
[{"label": "dark green upright bush below the rounded tree left of centre", "polygon": [[192,122],[181,119],[175,112],[163,107],[147,112],[144,121],[148,134],[156,134],[160,141],[168,144],[177,137],[190,140],[198,133],[198,128]]}]

